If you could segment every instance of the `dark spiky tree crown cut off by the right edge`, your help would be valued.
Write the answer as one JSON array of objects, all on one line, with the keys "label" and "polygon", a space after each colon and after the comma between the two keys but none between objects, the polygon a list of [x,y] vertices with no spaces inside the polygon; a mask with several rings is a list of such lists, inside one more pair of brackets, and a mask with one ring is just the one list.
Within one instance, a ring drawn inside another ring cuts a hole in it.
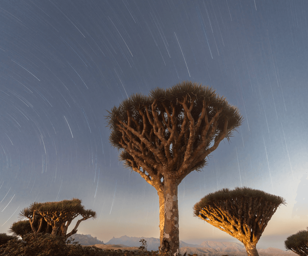
[{"label": "dark spiky tree crown cut off by the right edge", "polygon": [[285,248],[300,256],[308,255],[308,227],[307,230],[300,230],[296,234],[287,237]]}]

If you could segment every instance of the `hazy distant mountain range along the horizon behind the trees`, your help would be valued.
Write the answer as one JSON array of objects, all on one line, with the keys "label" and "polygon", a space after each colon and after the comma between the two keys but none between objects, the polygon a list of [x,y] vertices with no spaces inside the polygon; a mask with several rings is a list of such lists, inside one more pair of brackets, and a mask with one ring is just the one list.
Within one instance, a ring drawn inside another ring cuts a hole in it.
[{"label": "hazy distant mountain range along the horizon behind the trees", "polygon": [[[93,238],[91,235],[81,235],[74,234],[72,235],[75,238],[75,241],[79,241],[81,245],[94,245],[94,244],[104,244],[102,241]],[[147,237],[128,237],[121,236],[119,238],[113,237],[109,242],[105,243],[106,245],[125,245],[127,247],[139,247],[140,240],[144,239],[147,241],[147,250],[156,251],[160,246],[160,240],[158,238],[147,238]],[[91,241],[91,242],[90,242]],[[92,242],[93,241],[93,242]],[[95,242],[98,241],[98,242]],[[259,256],[297,256],[297,254],[291,251],[283,251],[277,248],[267,248],[267,249],[257,249]],[[188,244],[183,241],[180,241],[180,254],[197,254],[204,256],[221,256],[221,255],[237,255],[237,256],[247,256],[245,246],[241,243],[236,242],[216,242],[216,241],[205,241],[200,245],[197,244]]]}]

